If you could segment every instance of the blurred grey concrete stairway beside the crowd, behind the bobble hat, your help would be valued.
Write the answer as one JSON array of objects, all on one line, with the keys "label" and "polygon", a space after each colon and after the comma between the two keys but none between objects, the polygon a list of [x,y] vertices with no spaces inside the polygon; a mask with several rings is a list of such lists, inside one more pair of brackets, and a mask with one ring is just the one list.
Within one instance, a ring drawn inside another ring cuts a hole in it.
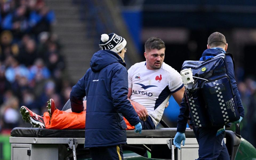
[{"label": "blurred grey concrete stairway beside the crowd, behind the bobble hat", "polygon": [[58,35],[62,45],[67,75],[76,83],[90,68],[91,56],[98,50],[93,39],[96,32],[90,31],[90,37],[87,36],[88,17],[85,15],[84,20],[80,20],[79,4],[72,0],[46,0],[46,5],[55,12],[53,33]]}]

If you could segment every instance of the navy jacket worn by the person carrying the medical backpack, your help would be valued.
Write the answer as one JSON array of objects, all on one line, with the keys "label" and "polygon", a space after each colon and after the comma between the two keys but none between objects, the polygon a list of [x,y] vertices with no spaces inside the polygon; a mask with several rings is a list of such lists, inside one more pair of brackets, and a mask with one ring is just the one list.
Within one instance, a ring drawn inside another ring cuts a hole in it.
[{"label": "navy jacket worn by the person carrying the medical backpack", "polygon": [[[202,58],[200,60],[206,60],[207,58],[211,58],[214,56],[217,56],[218,54],[221,54],[223,52],[221,52],[221,50],[219,49],[206,49],[203,54],[202,54]],[[225,52],[224,52],[225,53]],[[230,83],[232,84],[232,89],[234,91],[235,94],[235,99],[237,102],[237,107],[238,107],[238,111],[239,111],[239,115],[241,117],[244,117],[244,108],[242,105],[242,101],[240,98],[240,95],[238,93],[238,89],[237,89],[237,83],[235,81],[235,72],[234,72],[234,64],[233,64],[233,60],[229,55],[226,55],[226,60],[227,60],[227,68],[228,68],[228,73],[227,75],[230,78]],[[178,116],[178,125],[177,125],[177,132],[182,132],[184,133],[186,130],[186,125],[187,125],[187,120],[189,117],[189,108],[185,106],[186,103],[184,101],[184,98],[182,99],[181,102],[181,108],[180,108],[180,113]]]}]

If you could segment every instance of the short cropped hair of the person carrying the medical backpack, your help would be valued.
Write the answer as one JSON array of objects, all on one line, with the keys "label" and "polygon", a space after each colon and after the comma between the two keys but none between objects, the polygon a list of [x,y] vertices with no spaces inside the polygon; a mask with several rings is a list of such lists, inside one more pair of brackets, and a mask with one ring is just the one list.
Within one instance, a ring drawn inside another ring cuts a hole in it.
[{"label": "short cropped hair of the person carrying the medical backpack", "polygon": [[223,34],[219,32],[211,33],[208,38],[207,44],[211,47],[223,46],[226,45],[227,41]]}]

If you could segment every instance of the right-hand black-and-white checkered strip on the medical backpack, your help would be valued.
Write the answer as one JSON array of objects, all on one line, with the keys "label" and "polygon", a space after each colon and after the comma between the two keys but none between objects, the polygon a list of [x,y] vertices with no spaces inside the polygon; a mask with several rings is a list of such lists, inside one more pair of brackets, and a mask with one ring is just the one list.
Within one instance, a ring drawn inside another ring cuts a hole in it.
[{"label": "right-hand black-and-white checkered strip on the medical backpack", "polygon": [[219,91],[221,88],[218,87],[219,83],[216,80],[215,82],[213,82],[214,85],[216,85],[214,88],[216,89],[216,93],[218,92],[217,96],[218,96],[218,100],[219,100],[219,105],[221,106],[221,112],[222,112],[222,116],[224,118],[224,122],[228,123],[229,122],[229,116],[227,115],[227,108],[225,107],[225,102],[223,100],[223,96],[221,95],[222,93]]}]

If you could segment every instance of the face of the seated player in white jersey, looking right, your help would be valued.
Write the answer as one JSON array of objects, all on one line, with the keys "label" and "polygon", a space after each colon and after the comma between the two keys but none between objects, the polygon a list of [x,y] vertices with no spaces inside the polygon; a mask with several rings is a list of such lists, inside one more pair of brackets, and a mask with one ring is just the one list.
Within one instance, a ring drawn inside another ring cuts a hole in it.
[{"label": "face of the seated player in white jersey, looking right", "polygon": [[160,69],[165,59],[165,48],[160,50],[153,49],[147,53],[144,52],[144,56],[146,58],[147,69]]}]

